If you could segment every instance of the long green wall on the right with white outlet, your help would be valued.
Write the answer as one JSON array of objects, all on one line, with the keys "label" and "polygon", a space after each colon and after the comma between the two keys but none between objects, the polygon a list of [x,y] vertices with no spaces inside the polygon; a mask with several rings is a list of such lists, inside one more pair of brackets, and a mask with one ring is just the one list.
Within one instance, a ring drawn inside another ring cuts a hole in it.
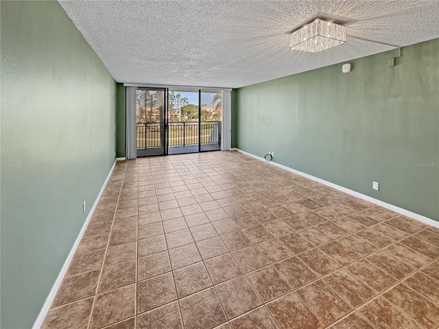
[{"label": "long green wall on the right with white outlet", "polygon": [[233,145],[439,221],[439,39],[396,55],[235,90]]}]

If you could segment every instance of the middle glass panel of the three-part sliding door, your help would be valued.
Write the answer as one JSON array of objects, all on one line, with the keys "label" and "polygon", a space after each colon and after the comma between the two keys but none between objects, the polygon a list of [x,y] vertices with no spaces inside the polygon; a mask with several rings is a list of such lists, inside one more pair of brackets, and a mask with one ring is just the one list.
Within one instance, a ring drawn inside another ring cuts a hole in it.
[{"label": "middle glass panel of the three-part sliding door", "polygon": [[198,152],[198,90],[169,90],[168,154]]}]

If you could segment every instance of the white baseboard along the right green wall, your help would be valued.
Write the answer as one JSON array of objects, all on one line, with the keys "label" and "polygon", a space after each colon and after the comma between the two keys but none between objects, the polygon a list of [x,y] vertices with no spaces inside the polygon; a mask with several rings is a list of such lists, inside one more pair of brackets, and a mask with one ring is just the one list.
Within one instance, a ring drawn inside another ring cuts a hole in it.
[{"label": "white baseboard along the right green wall", "polygon": [[[242,151],[241,149],[236,149],[236,148],[230,149],[230,151],[232,151],[232,150],[239,151],[242,154],[246,154],[247,156],[251,156],[252,158],[255,158],[255,159],[267,162],[265,159],[261,158],[260,156],[255,156],[254,154],[250,154],[250,153],[248,153],[246,151]],[[416,212],[412,212],[410,210],[407,210],[407,209],[404,209],[404,208],[400,208],[398,206],[394,206],[393,204],[388,204],[387,202],[383,202],[383,201],[381,201],[379,199],[375,199],[373,197],[369,197],[368,195],[364,195],[364,194],[355,192],[353,190],[350,190],[349,188],[346,188],[346,187],[343,187],[343,186],[340,186],[340,185],[328,182],[327,180],[322,180],[321,178],[317,178],[317,177],[314,177],[312,175],[308,175],[307,173],[302,173],[302,171],[298,171],[296,169],[289,168],[287,166],[284,166],[283,164],[278,164],[278,163],[272,162],[272,161],[270,161],[268,163],[272,164],[272,165],[274,165],[276,167],[279,167],[279,168],[285,169],[287,171],[290,171],[292,173],[296,173],[296,174],[298,174],[300,176],[303,176],[305,178],[309,178],[310,180],[314,180],[314,181],[319,182],[321,184],[324,184],[324,185],[327,185],[329,187],[335,188],[338,191],[342,191],[342,192],[347,193],[349,195],[353,195],[354,197],[358,197],[359,199],[364,199],[364,200],[366,200],[368,202],[371,202],[372,204],[377,204],[378,206],[381,206],[383,208],[387,208],[387,209],[392,210],[394,212],[398,212],[401,215],[405,215],[407,217],[411,217],[413,219],[416,219],[416,220],[421,221],[423,223],[426,223],[428,225],[434,226],[435,228],[439,228],[439,221],[434,221],[431,218],[425,217],[423,215],[416,214]]]}]

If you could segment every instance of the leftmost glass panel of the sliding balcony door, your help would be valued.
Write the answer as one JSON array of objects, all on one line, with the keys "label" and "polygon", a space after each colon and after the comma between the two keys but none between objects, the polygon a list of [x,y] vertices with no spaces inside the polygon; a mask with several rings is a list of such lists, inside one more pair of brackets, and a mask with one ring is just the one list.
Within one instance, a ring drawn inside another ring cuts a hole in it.
[{"label": "leftmost glass panel of the sliding balcony door", "polygon": [[137,156],[165,154],[165,90],[137,88]]}]

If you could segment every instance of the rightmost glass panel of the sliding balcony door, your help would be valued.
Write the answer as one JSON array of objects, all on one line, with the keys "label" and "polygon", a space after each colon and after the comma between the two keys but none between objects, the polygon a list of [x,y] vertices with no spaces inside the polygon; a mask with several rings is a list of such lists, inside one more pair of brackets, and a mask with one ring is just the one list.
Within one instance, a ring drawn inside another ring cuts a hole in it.
[{"label": "rightmost glass panel of the sliding balcony door", "polygon": [[201,151],[221,149],[222,92],[201,92]]}]

